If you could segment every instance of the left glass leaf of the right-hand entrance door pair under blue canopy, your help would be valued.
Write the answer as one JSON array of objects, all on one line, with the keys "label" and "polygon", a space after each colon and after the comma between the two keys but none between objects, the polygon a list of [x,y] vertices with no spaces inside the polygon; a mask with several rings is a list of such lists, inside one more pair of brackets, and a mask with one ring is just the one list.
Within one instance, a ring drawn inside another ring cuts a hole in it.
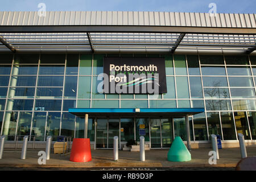
[{"label": "left glass leaf of the right-hand entrance door pair under blue canopy", "polygon": [[152,148],[161,148],[161,121],[160,119],[150,119],[150,139]]}]

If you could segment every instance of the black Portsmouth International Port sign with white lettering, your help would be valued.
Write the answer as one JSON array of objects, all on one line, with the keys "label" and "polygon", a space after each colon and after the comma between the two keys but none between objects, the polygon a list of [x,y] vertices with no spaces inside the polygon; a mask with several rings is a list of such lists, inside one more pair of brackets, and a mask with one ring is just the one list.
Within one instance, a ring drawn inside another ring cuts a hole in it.
[{"label": "black Portsmouth International Port sign with white lettering", "polygon": [[160,57],[104,57],[102,93],[167,93],[166,68]]}]

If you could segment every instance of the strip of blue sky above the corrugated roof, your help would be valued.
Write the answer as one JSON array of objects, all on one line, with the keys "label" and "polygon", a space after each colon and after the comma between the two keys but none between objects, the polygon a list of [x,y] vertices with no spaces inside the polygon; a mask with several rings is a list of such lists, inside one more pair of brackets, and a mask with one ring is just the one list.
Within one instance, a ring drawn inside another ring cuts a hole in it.
[{"label": "strip of blue sky above the corrugated roof", "polygon": [[170,11],[208,13],[216,3],[217,13],[256,13],[256,0],[0,0],[0,11]]}]

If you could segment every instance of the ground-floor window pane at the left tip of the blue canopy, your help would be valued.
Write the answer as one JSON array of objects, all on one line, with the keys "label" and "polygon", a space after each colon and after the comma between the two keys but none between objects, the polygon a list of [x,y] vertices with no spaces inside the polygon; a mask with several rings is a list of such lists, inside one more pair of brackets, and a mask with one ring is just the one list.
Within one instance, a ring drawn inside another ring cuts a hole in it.
[{"label": "ground-floor window pane at the left tip of the blue canopy", "polygon": [[61,120],[61,133],[62,136],[74,137],[75,133],[75,115],[71,113],[63,113]]}]

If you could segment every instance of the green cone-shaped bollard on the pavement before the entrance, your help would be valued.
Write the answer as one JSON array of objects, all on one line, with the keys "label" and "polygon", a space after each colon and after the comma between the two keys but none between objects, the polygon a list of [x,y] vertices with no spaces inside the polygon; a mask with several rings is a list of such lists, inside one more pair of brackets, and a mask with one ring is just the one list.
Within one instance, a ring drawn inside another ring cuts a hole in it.
[{"label": "green cone-shaped bollard on the pavement before the entrance", "polygon": [[191,154],[180,137],[175,137],[168,152],[168,161],[185,162],[191,160]]}]

